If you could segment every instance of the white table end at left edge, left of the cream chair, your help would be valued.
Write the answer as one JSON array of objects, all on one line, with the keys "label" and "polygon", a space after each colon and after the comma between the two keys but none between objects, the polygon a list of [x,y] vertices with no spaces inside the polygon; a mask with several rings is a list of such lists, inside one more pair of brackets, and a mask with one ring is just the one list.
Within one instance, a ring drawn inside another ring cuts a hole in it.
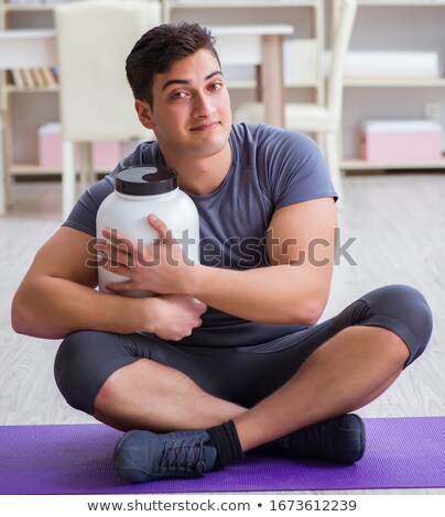
[{"label": "white table end at left edge, left of the cream chair", "polygon": [[[54,30],[0,31],[0,70],[33,68],[56,64]],[[0,216],[6,212],[6,157],[3,134],[3,92],[0,92]]]}]

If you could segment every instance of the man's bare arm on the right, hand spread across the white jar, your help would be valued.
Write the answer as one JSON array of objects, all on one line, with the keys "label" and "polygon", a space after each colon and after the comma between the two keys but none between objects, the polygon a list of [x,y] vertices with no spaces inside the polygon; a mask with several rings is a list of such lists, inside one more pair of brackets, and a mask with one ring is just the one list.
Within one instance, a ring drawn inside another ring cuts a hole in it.
[{"label": "man's bare arm on the right, hand spread across the white jar", "polygon": [[[150,221],[160,235],[169,240],[165,224]],[[312,324],[321,317],[329,294],[336,224],[332,198],[295,204],[279,209],[272,217],[268,232],[272,263],[269,267],[235,271],[193,266],[181,261],[177,250],[169,250],[164,251],[164,260],[159,261],[159,265],[146,267],[135,262],[131,267],[115,268],[116,273],[131,277],[131,282],[109,288],[183,293],[239,318]],[[154,253],[151,248],[144,253]],[[169,264],[166,255],[174,256],[176,265]],[[124,256],[117,260],[128,263]]]}]

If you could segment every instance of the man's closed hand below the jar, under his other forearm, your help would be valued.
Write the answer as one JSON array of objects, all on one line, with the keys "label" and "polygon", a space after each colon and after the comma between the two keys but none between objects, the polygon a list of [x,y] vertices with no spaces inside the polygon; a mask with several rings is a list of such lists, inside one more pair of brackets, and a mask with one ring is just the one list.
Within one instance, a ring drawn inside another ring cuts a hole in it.
[{"label": "man's closed hand below the jar, under his other forearm", "polygon": [[191,336],[203,321],[200,316],[207,306],[185,295],[161,295],[148,298],[150,305],[150,331],[169,341],[180,341]]}]

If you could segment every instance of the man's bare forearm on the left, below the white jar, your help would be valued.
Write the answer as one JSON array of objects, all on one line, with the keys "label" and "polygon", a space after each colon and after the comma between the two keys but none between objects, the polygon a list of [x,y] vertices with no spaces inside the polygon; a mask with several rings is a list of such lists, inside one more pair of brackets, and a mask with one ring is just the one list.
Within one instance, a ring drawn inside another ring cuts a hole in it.
[{"label": "man's bare forearm on the left, below the white jar", "polygon": [[11,320],[17,332],[36,338],[61,339],[77,330],[130,333],[146,330],[138,328],[142,327],[138,302],[138,299],[44,276],[30,279],[19,288]]}]

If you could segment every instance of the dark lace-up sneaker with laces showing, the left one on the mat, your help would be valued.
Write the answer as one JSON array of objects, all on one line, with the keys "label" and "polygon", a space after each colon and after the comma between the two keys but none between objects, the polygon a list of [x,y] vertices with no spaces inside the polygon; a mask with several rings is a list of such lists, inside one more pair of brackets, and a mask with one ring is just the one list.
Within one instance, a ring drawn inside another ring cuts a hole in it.
[{"label": "dark lace-up sneaker with laces showing, the left one on the mat", "polygon": [[129,431],[115,449],[115,470],[133,483],[165,477],[203,477],[214,466],[216,449],[206,446],[207,431],[156,435]]}]

